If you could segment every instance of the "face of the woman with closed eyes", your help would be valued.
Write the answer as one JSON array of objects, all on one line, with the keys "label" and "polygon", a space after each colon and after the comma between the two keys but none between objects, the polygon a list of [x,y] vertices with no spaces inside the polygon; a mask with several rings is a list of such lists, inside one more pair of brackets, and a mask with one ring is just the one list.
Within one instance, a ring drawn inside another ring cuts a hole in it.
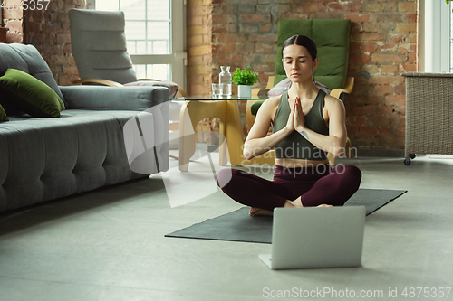
[{"label": "face of the woman with closed eyes", "polygon": [[313,61],[310,52],[304,46],[289,45],[283,51],[283,65],[288,79],[293,82],[304,82],[313,78],[318,58]]}]

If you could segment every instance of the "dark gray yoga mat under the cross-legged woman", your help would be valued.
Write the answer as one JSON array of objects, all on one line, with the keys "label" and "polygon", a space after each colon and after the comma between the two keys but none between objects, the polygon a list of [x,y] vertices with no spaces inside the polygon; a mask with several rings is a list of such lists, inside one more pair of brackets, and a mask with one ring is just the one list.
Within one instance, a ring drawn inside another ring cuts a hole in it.
[{"label": "dark gray yoga mat under the cross-legged woman", "polygon": [[[359,189],[344,206],[364,205],[367,215],[398,198],[405,190]],[[165,235],[202,240],[232,240],[258,243],[272,242],[272,216],[249,216],[243,207],[214,219]]]}]

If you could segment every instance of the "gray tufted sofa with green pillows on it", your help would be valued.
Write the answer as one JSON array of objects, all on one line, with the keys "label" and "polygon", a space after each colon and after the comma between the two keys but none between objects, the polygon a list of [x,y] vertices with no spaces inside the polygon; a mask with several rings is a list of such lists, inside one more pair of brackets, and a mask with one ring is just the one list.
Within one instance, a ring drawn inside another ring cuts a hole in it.
[{"label": "gray tufted sofa with green pillows on it", "polygon": [[[11,106],[0,90],[0,104],[10,120],[0,123],[0,212],[168,170],[169,89],[59,87],[34,46],[0,43],[0,76],[8,68],[45,82],[63,99],[66,109],[60,118],[32,118]],[[134,150],[140,145],[133,141],[138,138],[125,137],[130,129],[123,127],[129,124],[133,133],[136,116],[143,110],[154,117],[144,139],[154,145],[152,155],[140,156],[137,153],[146,148]],[[142,165],[140,160],[133,162],[137,158],[155,161],[139,170],[145,174],[138,174],[130,168]]]}]

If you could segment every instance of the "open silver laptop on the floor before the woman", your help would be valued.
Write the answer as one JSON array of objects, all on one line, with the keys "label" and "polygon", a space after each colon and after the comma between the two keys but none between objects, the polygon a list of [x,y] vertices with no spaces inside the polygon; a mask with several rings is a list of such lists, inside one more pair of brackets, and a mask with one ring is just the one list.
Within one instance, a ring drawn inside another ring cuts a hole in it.
[{"label": "open silver laptop on the floor before the woman", "polygon": [[361,265],[365,206],[275,208],[272,269],[345,268]]}]

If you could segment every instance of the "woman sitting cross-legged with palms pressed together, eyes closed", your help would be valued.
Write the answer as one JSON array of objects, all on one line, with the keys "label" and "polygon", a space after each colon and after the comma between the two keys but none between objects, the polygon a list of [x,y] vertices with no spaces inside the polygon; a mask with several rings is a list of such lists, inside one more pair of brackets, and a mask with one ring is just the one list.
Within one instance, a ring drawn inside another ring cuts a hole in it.
[{"label": "woman sitting cross-legged with palms pressed together, eyes closed", "polygon": [[[316,45],[294,35],[284,42],[282,57],[292,86],[265,100],[244,145],[246,159],[275,149],[273,181],[238,169],[217,174],[224,193],[252,207],[250,215],[272,215],[275,207],[342,206],[361,183],[356,166],[328,164],[327,153],[344,152],[345,110],[341,100],[314,84]],[[271,125],[273,134],[266,136]]]}]

